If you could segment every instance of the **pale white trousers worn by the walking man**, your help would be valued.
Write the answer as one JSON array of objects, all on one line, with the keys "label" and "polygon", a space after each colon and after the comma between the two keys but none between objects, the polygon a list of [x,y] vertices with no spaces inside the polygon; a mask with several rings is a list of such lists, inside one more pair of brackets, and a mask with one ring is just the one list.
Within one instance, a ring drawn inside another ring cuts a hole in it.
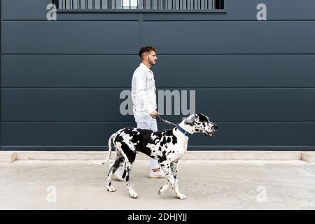
[{"label": "pale white trousers worn by the walking man", "polygon": [[[134,120],[136,120],[137,128],[148,129],[153,131],[158,131],[158,124],[156,119],[152,118],[150,114],[146,112],[134,111]],[[159,168],[160,165],[156,160],[150,158],[151,169]]]}]

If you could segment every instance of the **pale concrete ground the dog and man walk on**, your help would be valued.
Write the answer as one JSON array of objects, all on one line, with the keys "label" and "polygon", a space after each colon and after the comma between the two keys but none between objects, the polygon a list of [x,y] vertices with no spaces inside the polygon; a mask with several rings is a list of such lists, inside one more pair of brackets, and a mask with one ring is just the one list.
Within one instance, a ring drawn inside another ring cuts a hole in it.
[{"label": "pale concrete ground the dog and man walk on", "polygon": [[95,161],[0,163],[0,209],[315,209],[315,163],[302,161],[179,162],[179,189],[158,195],[165,179],[148,179],[148,161],[106,191],[107,165]]}]

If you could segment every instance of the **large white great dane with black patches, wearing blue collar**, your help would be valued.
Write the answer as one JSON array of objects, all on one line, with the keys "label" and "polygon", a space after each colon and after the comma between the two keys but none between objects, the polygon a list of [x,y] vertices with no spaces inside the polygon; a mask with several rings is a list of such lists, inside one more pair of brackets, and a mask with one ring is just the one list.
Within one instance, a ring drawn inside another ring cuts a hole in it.
[{"label": "large white great dane with black patches, wearing blue collar", "polygon": [[134,127],[125,127],[119,130],[109,138],[109,155],[106,158],[106,162],[111,158],[111,144],[116,149],[116,160],[107,172],[107,190],[109,192],[115,191],[115,188],[111,186],[111,179],[113,173],[124,162],[125,171],[122,177],[127,182],[129,195],[133,198],[138,197],[129,179],[132,165],[136,158],[136,151],[140,151],[157,160],[167,177],[167,184],[158,190],[158,194],[162,194],[171,186],[175,190],[177,198],[185,199],[186,196],[179,192],[177,162],[187,151],[189,135],[200,132],[205,136],[212,137],[217,129],[218,125],[211,123],[207,116],[204,116],[202,113],[196,113],[190,115],[173,129],[162,132],[153,132],[152,130]]}]

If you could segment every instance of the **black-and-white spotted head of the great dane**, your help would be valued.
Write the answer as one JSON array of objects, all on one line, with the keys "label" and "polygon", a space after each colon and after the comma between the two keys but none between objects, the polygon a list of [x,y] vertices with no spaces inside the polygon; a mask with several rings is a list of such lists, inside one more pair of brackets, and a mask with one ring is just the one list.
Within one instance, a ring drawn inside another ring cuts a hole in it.
[{"label": "black-and-white spotted head of the great dane", "polygon": [[218,125],[211,123],[209,118],[202,113],[195,113],[184,120],[185,125],[193,127],[193,132],[200,132],[205,136],[212,137],[218,130]]}]

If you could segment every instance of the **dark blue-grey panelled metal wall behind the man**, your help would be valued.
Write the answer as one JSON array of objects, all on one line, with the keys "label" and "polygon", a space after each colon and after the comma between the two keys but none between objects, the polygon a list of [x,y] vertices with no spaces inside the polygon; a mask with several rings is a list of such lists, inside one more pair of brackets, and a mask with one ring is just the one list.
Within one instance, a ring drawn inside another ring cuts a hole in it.
[{"label": "dark blue-grey panelled metal wall behind the man", "polygon": [[[227,13],[64,13],[1,1],[1,150],[104,150],[139,48],[158,90],[196,90],[218,123],[194,149],[315,149],[315,1],[229,0]],[[256,20],[258,3],[267,21]],[[182,116],[164,116],[179,121]],[[158,123],[159,129],[169,126]]]}]

